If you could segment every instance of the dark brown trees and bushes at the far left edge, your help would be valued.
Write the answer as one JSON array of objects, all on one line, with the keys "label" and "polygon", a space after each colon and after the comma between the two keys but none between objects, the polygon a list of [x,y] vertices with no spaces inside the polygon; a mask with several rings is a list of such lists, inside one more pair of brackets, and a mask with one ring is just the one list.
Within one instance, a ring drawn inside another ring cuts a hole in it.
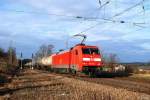
[{"label": "dark brown trees and bushes at the far left edge", "polygon": [[17,66],[16,49],[13,47],[7,50],[0,48],[0,85],[10,82],[11,77],[18,75]]}]

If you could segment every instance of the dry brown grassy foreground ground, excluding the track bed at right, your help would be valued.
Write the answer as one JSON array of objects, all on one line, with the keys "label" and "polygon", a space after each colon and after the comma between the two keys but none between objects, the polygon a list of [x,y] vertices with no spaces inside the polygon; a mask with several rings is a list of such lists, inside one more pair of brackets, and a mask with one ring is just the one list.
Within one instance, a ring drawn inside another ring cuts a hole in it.
[{"label": "dry brown grassy foreground ground, excluding the track bed at right", "polygon": [[[32,74],[31,74],[32,73]],[[146,94],[116,89],[81,80],[46,74],[26,72],[14,79],[6,95],[9,100],[149,100]]]}]

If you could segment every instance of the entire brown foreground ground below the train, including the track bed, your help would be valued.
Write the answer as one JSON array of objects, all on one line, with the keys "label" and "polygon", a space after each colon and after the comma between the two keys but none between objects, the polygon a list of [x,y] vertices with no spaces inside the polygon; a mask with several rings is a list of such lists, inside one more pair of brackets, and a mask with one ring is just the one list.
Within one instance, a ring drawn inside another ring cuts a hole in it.
[{"label": "entire brown foreground ground below the train, including the track bed", "polygon": [[68,77],[27,69],[0,87],[0,100],[150,100],[149,82],[132,79]]}]

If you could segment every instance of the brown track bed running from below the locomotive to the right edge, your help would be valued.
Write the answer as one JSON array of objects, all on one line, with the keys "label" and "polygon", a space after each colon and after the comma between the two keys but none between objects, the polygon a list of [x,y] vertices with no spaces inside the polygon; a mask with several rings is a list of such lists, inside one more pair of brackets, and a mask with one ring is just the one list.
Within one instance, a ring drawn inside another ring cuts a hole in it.
[{"label": "brown track bed running from below the locomotive to the right edge", "polygon": [[[55,74],[55,73],[53,73]],[[57,74],[58,75],[58,74]],[[123,88],[133,92],[140,92],[150,94],[150,83],[148,81],[142,81],[132,78],[89,78],[88,76],[75,76],[70,74],[59,74],[64,77],[75,78],[82,81],[109,85],[115,88]]]}]

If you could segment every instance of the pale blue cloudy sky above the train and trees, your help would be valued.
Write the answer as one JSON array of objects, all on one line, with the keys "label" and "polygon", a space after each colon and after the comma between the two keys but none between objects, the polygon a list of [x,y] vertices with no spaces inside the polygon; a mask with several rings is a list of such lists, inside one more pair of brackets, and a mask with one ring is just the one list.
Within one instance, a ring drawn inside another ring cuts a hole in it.
[{"label": "pale blue cloudy sky above the train and trees", "polygon": [[[30,58],[42,44],[53,44],[58,51],[66,48],[68,38],[82,33],[86,44],[117,54],[121,62],[147,62],[150,0],[142,1],[0,0],[0,47],[12,45],[18,56],[23,52]],[[69,39],[69,47],[79,42]]]}]

